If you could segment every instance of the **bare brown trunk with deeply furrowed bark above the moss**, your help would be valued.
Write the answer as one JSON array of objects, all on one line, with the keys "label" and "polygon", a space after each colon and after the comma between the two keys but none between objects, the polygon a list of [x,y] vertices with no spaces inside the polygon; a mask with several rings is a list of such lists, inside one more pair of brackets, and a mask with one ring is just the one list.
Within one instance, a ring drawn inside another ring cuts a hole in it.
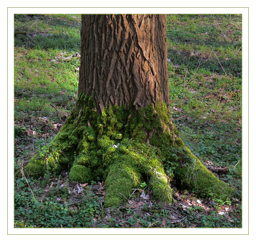
[{"label": "bare brown trunk with deeply furrowed bark above the moss", "polygon": [[169,104],[165,15],[82,15],[78,94],[135,109]]}]

